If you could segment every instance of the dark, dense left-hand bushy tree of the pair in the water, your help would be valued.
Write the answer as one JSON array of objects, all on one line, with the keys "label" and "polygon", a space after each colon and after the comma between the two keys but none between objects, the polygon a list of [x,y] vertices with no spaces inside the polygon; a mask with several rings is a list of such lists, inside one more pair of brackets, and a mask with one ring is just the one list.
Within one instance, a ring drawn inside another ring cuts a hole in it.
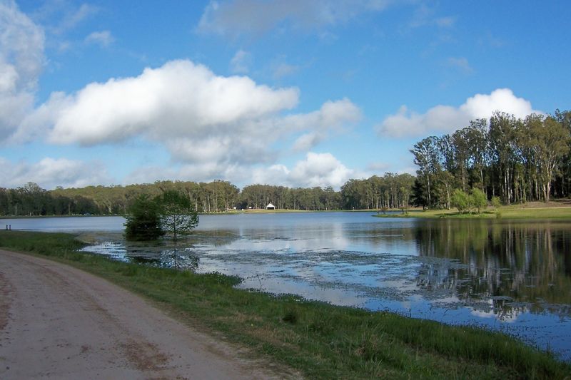
[{"label": "dark, dense left-hand bushy tree of the pair in the water", "polygon": [[164,235],[158,203],[148,195],[139,195],[129,207],[125,222],[126,240],[157,240]]}]

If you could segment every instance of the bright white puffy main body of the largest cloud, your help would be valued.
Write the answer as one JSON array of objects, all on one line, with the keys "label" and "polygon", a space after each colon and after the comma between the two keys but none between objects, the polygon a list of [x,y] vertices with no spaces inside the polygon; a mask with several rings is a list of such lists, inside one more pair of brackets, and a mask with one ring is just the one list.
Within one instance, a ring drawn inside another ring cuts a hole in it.
[{"label": "bright white puffy main body of the largest cloud", "polygon": [[141,134],[203,138],[297,102],[295,88],[273,89],[247,77],[216,76],[191,61],[171,61],[137,77],[90,83],[69,96],[54,93],[41,111],[53,125],[51,142],[94,145]]}]

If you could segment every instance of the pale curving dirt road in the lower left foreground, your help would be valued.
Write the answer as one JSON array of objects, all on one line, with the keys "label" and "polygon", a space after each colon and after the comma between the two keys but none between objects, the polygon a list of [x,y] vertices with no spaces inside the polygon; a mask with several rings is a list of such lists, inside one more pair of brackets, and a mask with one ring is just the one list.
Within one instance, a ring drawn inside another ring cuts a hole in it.
[{"label": "pale curving dirt road in the lower left foreground", "polygon": [[266,363],[79,269],[0,250],[0,379],[267,379]]}]

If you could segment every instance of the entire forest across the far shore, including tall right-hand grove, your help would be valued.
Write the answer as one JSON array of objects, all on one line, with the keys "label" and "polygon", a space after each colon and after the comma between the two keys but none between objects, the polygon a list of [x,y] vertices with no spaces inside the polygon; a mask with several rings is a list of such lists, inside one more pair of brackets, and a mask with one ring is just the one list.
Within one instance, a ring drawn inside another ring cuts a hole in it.
[{"label": "entire forest across the far shore, including tall right-hand grove", "polygon": [[333,188],[286,188],[158,181],[127,186],[44,190],[36,183],[0,188],[0,215],[124,215],[141,194],[178,190],[198,212],[263,209],[272,202],[290,210],[387,210],[413,206],[450,208],[454,190],[477,188],[509,205],[571,195],[571,112],[494,113],[452,134],[430,136],[413,149],[417,176],[385,173]]}]

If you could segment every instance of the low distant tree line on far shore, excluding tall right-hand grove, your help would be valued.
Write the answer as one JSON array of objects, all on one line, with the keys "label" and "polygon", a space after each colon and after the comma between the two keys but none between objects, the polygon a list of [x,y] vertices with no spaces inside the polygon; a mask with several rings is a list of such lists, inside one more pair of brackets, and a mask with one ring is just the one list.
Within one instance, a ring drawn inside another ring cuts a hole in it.
[{"label": "low distant tree line on far shore, excluding tall right-hand grove", "polygon": [[382,177],[349,180],[340,191],[331,187],[287,188],[276,185],[248,185],[239,190],[228,181],[211,183],[157,181],[126,186],[87,186],[45,190],[36,183],[0,188],[0,215],[126,215],[140,195],[158,197],[176,191],[184,195],[197,212],[263,209],[272,202],[288,210],[360,210],[408,207],[414,177],[385,173]]}]

